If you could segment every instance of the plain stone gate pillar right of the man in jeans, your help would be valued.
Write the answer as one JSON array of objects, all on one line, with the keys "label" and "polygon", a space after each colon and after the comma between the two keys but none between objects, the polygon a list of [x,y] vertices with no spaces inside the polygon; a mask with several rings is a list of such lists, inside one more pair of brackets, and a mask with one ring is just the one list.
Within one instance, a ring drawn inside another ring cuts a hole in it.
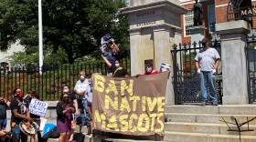
[{"label": "plain stone gate pillar right of the man in jeans", "polygon": [[221,40],[223,105],[249,104],[246,70],[246,21],[233,21],[216,25]]}]

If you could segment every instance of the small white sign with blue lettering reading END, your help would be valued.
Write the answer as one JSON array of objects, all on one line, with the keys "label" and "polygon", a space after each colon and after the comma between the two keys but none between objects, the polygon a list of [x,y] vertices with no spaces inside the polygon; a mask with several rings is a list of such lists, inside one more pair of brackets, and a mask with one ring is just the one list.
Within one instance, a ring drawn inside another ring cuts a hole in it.
[{"label": "small white sign with blue lettering reading END", "polygon": [[32,99],[29,105],[29,112],[40,117],[44,117],[46,115],[47,109],[48,103],[37,99]]}]

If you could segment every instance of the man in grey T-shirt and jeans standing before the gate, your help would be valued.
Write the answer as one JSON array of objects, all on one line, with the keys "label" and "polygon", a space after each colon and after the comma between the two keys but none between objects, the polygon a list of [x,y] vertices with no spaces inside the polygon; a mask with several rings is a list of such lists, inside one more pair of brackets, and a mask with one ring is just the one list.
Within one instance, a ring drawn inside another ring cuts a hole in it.
[{"label": "man in grey T-shirt and jeans standing before the gate", "polygon": [[[195,57],[197,74],[200,75],[201,106],[206,106],[208,88],[209,98],[213,106],[218,106],[218,98],[215,90],[216,69],[219,66],[219,53],[215,48],[210,47],[210,41],[203,39],[204,48]],[[207,82],[206,82],[207,81]]]}]

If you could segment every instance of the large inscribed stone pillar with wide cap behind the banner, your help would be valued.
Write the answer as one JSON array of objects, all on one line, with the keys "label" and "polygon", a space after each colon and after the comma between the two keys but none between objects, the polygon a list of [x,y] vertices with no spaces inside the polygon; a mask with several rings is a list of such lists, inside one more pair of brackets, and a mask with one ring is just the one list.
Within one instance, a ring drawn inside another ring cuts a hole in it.
[{"label": "large inscribed stone pillar with wide cap behind the banner", "polygon": [[[181,7],[178,0],[130,0],[130,6],[121,12],[130,20],[131,76],[144,74],[144,60],[153,59],[155,70],[159,70],[162,63],[172,66],[171,49],[181,42],[180,15],[187,13],[187,9]],[[175,101],[170,80],[166,105],[173,105]]]}]

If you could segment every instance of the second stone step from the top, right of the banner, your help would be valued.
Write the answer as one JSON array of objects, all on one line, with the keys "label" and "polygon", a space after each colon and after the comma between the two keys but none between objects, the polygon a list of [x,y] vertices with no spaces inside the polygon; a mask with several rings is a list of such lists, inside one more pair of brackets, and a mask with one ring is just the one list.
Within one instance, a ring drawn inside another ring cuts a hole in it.
[{"label": "second stone step from the top, right of the banner", "polygon": [[[246,122],[256,117],[256,115],[219,115],[219,114],[182,114],[182,113],[165,113],[167,121],[170,122],[197,122],[197,123],[220,123],[224,119],[227,122],[234,122],[231,117],[235,117],[239,123]],[[223,119],[222,119],[223,117]],[[250,122],[256,125],[256,119]]]}]

